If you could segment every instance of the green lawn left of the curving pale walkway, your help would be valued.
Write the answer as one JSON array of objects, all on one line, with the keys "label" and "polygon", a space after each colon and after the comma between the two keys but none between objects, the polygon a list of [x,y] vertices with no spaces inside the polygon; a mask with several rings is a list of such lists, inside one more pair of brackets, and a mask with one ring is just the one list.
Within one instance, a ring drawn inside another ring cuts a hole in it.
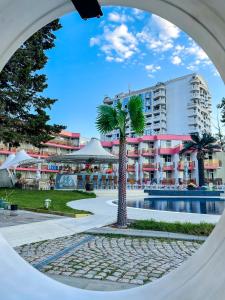
[{"label": "green lawn left of the curving pale walkway", "polygon": [[[19,209],[52,213],[74,217],[75,214],[87,214],[90,212],[76,210],[68,207],[66,203],[73,200],[95,198],[94,193],[82,191],[34,191],[20,189],[0,189],[0,198],[6,199],[11,204],[18,204]],[[51,206],[45,209],[44,200],[51,199]]]}]

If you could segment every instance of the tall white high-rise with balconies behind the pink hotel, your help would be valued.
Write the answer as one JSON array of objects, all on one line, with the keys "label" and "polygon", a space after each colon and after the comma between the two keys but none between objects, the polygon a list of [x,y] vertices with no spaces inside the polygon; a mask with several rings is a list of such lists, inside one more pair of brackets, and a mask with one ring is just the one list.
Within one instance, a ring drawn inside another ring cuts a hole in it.
[{"label": "tall white high-rise with balconies behind the pink hotel", "polygon": [[[211,132],[211,96],[208,85],[199,74],[157,83],[155,86],[129,93],[120,93],[113,98],[105,97],[104,104],[116,105],[121,101],[126,107],[131,96],[139,95],[146,116],[145,135]],[[128,137],[135,137],[130,124]],[[103,140],[118,139],[116,130],[102,136]]]}]

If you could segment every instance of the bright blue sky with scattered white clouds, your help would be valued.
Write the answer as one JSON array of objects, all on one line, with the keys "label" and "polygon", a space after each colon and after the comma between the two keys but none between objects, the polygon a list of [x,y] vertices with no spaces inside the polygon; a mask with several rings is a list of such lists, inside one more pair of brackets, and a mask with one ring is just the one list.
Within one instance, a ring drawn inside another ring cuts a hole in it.
[{"label": "bright blue sky with scattered white clouds", "polygon": [[103,8],[101,19],[77,13],[61,18],[56,47],[48,53],[45,95],[59,101],[52,122],[82,136],[98,136],[96,107],[105,95],[144,88],[159,81],[200,73],[215,110],[225,87],[206,53],[175,25],[137,9]]}]

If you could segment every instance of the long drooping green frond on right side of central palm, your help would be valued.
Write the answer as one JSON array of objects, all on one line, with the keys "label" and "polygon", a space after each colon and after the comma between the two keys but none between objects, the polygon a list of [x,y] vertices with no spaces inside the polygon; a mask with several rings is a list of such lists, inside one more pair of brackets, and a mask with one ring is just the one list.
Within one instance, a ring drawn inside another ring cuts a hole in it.
[{"label": "long drooping green frond on right side of central palm", "polygon": [[145,129],[145,115],[143,113],[143,102],[141,97],[132,96],[130,98],[128,102],[128,111],[133,131],[139,135],[143,134]]}]

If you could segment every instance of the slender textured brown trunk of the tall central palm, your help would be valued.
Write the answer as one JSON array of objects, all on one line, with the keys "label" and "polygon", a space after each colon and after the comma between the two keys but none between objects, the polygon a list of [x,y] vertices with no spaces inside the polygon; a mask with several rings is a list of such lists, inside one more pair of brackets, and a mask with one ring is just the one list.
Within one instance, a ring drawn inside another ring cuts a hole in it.
[{"label": "slender textured brown trunk of the tall central palm", "polygon": [[118,184],[118,212],[117,226],[127,227],[127,170],[126,170],[126,139],[120,139],[119,149],[119,184]]}]

